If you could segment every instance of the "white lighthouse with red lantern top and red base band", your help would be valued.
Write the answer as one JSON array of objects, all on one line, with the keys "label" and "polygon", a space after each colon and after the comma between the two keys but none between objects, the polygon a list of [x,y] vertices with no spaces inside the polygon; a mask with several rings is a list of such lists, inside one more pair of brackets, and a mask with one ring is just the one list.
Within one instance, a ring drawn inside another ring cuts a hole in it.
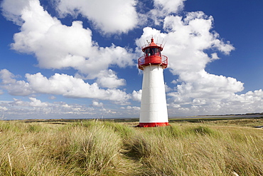
[{"label": "white lighthouse with red lantern top and red base band", "polygon": [[158,127],[168,124],[166,93],[163,69],[168,66],[168,58],[161,55],[162,45],[151,43],[141,47],[144,56],[138,59],[138,68],[144,71],[141,93],[139,127]]}]

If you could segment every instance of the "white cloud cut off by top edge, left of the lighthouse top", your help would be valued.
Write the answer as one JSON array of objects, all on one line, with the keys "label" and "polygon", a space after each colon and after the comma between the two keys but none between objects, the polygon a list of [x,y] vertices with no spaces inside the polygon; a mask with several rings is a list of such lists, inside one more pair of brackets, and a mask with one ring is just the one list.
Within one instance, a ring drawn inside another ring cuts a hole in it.
[{"label": "white cloud cut off by top edge, left of the lighthouse top", "polygon": [[138,24],[135,0],[55,0],[60,16],[81,14],[103,33],[127,33]]}]

